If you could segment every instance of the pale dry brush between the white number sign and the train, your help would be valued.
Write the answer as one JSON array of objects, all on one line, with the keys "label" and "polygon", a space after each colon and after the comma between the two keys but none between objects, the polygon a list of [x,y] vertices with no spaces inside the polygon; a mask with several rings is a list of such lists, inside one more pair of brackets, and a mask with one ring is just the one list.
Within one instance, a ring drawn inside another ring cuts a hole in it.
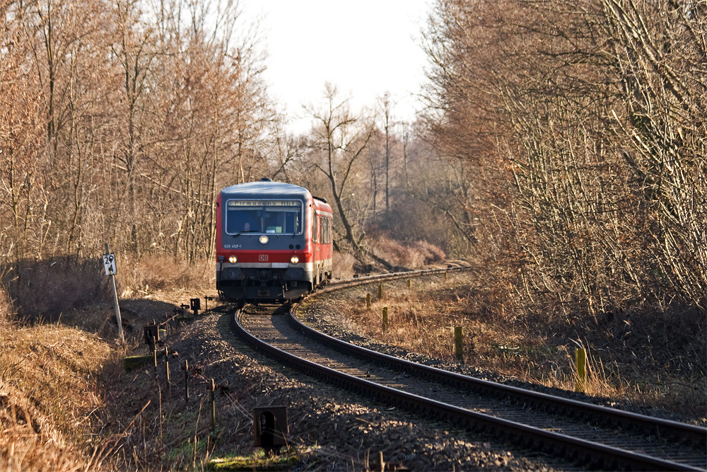
[{"label": "pale dry brush between the white number sign and the train", "polygon": [[117,284],[123,297],[134,292],[146,294],[182,287],[210,288],[216,284],[216,265],[209,260],[189,264],[184,260],[175,262],[166,254],[146,255],[139,260],[125,255],[117,260],[117,264]]}]

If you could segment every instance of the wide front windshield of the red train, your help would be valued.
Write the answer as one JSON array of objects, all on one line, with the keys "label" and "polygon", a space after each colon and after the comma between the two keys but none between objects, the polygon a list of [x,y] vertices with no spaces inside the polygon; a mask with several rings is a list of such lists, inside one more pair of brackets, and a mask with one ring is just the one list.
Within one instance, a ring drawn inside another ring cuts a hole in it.
[{"label": "wide front windshield of the red train", "polygon": [[227,234],[301,234],[302,202],[298,200],[228,200]]}]

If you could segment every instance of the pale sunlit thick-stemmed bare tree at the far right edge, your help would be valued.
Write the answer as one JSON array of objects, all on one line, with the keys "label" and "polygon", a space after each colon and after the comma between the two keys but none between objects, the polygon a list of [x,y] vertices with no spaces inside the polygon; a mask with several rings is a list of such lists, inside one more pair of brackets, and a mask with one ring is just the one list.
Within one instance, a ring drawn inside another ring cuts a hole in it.
[{"label": "pale sunlit thick-stemmed bare tree at the far right edge", "polygon": [[[607,51],[621,78],[612,109],[621,156],[641,181],[648,236],[662,277],[706,306],[707,6],[703,2],[601,2]],[[702,64],[701,66],[699,64]]]}]

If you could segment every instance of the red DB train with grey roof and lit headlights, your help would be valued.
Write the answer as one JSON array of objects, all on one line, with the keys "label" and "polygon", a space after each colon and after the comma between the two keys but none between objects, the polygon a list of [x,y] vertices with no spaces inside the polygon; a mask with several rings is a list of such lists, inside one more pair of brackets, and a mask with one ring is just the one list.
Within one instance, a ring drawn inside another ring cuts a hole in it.
[{"label": "red DB train with grey roof and lit headlights", "polygon": [[332,207],[263,179],[216,202],[216,289],[231,301],[298,299],[332,279]]}]

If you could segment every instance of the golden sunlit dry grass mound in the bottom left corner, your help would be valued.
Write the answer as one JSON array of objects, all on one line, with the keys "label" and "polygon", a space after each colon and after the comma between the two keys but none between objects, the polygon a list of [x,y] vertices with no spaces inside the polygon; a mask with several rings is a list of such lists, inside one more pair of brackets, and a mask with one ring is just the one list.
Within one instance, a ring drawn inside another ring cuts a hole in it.
[{"label": "golden sunlit dry grass mound in the bottom left corner", "polygon": [[[0,469],[85,471],[100,466],[90,417],[110,347],[57,325],[0,329]],[[71,401],[67,401],[71,399]]]}]

